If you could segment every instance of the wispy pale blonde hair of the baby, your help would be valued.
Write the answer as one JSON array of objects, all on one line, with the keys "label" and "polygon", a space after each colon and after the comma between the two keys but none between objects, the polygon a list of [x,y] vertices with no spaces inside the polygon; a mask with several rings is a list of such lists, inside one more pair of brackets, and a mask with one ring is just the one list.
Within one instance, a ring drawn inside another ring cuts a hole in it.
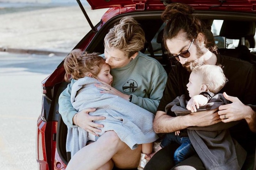
[{"label": "wispy pale blonde hair of the baby", "polygon": [[221,66],[203,65],[192,69],[192,72],[203,78],[203,84],[214,94],[218,93],[228,81]]}]

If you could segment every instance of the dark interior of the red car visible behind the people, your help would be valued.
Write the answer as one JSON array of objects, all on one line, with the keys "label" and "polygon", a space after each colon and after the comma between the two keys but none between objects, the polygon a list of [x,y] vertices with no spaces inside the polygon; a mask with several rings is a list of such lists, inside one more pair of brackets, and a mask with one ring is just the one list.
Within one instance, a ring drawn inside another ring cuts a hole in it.
[{"label": "dark interior of the red car visible behind the people", "polygon": [[[165,70],[169,72],[171,67],[175,67],[175,64],[171,63],[168,52],[163,46],[163,28],[165,23],[160,18],[161,11],[145,12],[143,14],[131,13],[130,15],[141,24],[141,27],[145,31],[147,43],[141,52],[156,58],[161,64],[163,64]],[[206,19],[204,18],[204,16],[206,17],[205,14],[198,13],[198,15],[202,17],[205,22],[211,24],[211,32],[209,35],[211,37],[209,37],[209,40],[211,39],[214,41],[212,43],[217,44],[220,54],[233,56],[252,63],[256,62],[255,20],[239,20],[242,17],[234,20],[233,16],[225,15],[216,15],[214,17],[208,16],[208,19]],[[96,33],[95,37],[92,39],[93,43],[90,43],[86,50],[88,52],[104,53],[104,36],[108,32],[108,28],[112,28],[114,23],[119,21],[121,18],[122,15],[119,15],[113,17],[110,21],[107,21],[107,23],[103,25],[105,29],[101,29]],[[237,19],[239,21],[237,21]],[[152,23],[154,25],[153,27]],[[62,82],[56,85],[58,86],[58,91],[54,94],[56,95],[54,113],[58,112],[58,96],[66,88],[67,84],[68,83],[66,82]],[[67,165],[70,160],[70,154],[66,153],[67,128],[62,121],[60,114],[55,114],[54,116],[55,118],[53,119],[58,121],[56,134],[57,151],[62,161]]]}]

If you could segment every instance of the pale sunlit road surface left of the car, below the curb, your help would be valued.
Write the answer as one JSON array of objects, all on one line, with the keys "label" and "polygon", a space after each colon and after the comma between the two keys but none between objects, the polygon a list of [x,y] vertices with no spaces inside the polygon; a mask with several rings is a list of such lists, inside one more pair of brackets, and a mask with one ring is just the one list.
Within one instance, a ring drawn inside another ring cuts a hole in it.
[{"label": "pale sunlit road surface left of the car, below the curb", "polygon": [[0,52],[0,170],[37,170],[42,86],[61,56]]}]

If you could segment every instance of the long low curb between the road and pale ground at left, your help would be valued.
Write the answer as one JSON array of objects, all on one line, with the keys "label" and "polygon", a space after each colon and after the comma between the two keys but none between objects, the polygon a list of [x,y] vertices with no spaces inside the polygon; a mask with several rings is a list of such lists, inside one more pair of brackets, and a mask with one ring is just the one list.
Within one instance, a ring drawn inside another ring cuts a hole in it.
[{"label": "long low curb between the road and pale ground at left", "polygon": [[56,55],[56,56],[66,56],[69,53],[69,52],[61,52],[61,51],[18,49],[18,48],[7,48],[7,47],[0,47],[0,51],[1,52],[10,52],[10,53],[38,54],[38,55]]}]

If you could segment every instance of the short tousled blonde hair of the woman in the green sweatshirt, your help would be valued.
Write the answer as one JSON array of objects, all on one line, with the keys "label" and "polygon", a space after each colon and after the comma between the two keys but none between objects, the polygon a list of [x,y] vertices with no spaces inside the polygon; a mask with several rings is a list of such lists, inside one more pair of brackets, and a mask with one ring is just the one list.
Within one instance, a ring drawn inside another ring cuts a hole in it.
[{"label": "short tousled blonde hair of the woman in the green sweatshirt", "polygon": [[142,50],[145,45],[145,33],[133,17],[123,17],[104,38],[105,48],[121,50],[129,58]]}]

